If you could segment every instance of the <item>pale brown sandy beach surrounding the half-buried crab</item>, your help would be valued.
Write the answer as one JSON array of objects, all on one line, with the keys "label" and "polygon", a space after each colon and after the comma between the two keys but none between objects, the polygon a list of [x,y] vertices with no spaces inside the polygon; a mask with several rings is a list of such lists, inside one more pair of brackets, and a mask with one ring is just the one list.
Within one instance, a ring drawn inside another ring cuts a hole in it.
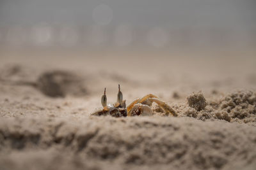
[{"label": "pale brown sandy beach surrounding the half-buried crab", "polygon": [[[254,54],[2,50],[0,169],[256,169]],[[90,116],[118,83],[179,116]]]}]

